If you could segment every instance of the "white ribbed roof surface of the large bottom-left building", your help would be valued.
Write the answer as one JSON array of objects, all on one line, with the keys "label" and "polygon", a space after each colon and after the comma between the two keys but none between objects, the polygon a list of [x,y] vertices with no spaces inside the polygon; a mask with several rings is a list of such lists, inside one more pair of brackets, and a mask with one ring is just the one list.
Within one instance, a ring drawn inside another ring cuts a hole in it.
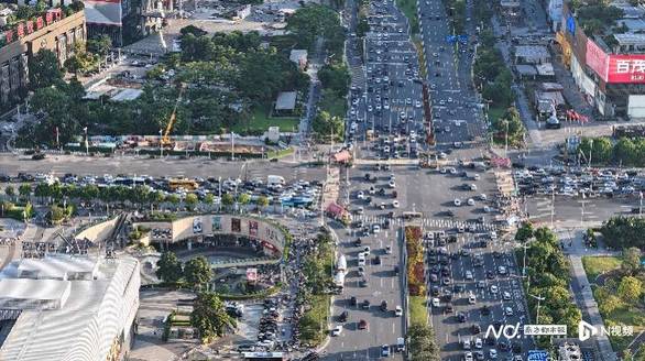
[{"label": "white ribbed roof surface of the large bottom-left building", "polygon": [[[0,273],[1,297],[7,299],[52,299],[68,292],[66,302],[56,309],[23,308],[4,342],[0,344],[2,361],[107,360],[112,342],[136,311],[132,289],[139,289],[139,262],[122,258],[114,260],[56,255],[29,260],[67,271],[85,270],[83,264],[97,264],[90,281],[30,280],[19,276],[24,261],[10,263]],[[2,285],[11,286],[7,289]],[[129,302],[127,304],[127,300]]]}]

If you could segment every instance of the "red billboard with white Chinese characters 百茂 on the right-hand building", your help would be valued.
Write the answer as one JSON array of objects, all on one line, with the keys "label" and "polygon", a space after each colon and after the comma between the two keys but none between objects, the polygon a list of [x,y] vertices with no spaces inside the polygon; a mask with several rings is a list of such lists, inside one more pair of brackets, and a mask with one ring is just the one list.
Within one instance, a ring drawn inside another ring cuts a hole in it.
[{"label": "red billboard with white Chinese characters \u767e\u8302 on the right-hand building", "polygon": [[608,55],[588,40],[587,66],[606,83],[645,83],[645,54]]}]

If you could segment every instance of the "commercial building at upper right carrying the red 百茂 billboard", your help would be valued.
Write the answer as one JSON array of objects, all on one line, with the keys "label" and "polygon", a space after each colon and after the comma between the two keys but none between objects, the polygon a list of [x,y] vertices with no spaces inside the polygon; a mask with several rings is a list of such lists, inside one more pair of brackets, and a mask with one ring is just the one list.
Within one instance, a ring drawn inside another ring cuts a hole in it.
[{"label": "commercial building at upper right carrying the red \u767e\u8302 billboard", "polygon": [[556,41],[587,101],[605,117],[645,118],[645,11],[625,2],[621,33],[609,25],[588,36],[570,3],[562,6]]}]

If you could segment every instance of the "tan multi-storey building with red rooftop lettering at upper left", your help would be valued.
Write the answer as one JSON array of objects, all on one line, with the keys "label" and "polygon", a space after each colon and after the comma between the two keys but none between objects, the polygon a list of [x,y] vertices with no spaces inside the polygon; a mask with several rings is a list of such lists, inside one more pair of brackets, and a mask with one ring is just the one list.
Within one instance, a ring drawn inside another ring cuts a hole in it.
[{"label": "tan multi-storey building with red rooftop lettering at upper left", "polygon": [[85,42],[85,14],[47,10],[35,20],[18,22],[0,33],[0,108],[8,108],[25,95],[29,59],[41,48],[53,51],[61,65],[76,42]]}]

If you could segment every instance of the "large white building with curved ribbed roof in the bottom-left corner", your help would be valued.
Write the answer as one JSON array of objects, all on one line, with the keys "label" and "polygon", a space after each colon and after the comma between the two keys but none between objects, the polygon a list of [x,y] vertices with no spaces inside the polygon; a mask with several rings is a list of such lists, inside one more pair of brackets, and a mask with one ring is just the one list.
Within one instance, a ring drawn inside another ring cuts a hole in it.
[{"label": "large white building with curved ribbed roof in the bottom-left corner", "polygon": [[0,273],[0,360],[118,360],[133,341],[139,261],[56,255]]}]

